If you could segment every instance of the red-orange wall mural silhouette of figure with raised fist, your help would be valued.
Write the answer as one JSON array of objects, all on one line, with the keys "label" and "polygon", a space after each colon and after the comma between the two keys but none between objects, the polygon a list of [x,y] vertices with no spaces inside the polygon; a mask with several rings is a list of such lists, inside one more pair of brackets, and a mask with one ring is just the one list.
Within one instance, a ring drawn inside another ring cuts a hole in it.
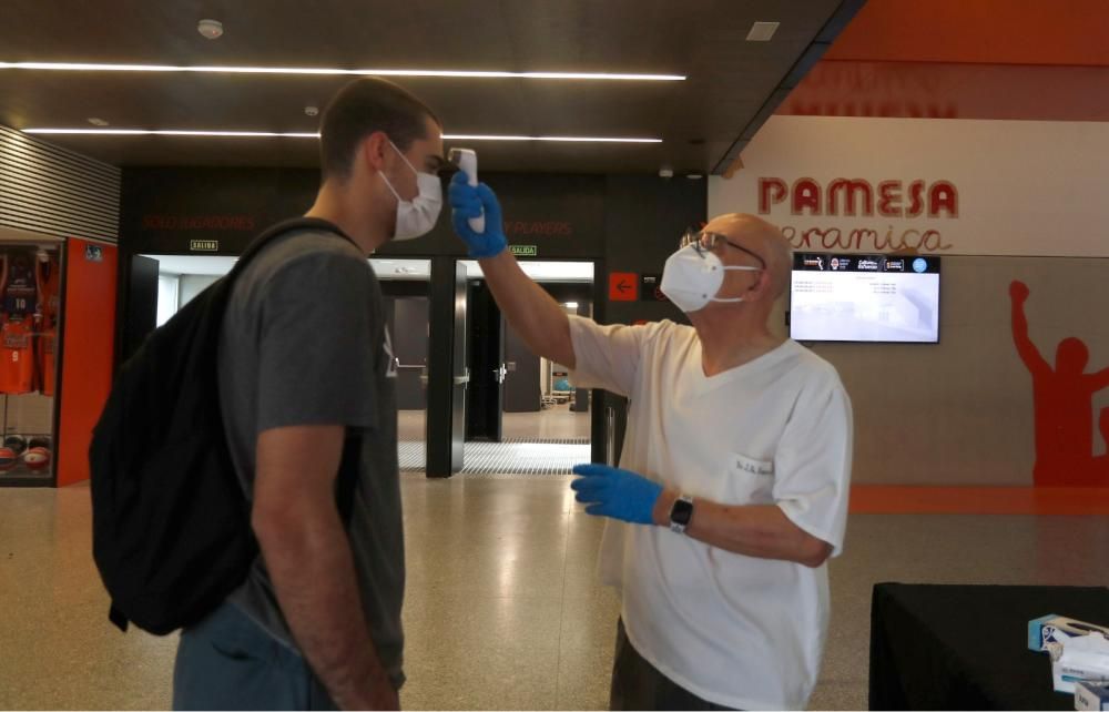
[{"label": "red-orange wall mural silhouette of figure with raised fist", "polygon": [[[1109,486],[1109,458],[1093,457],[1093,394],[1109,387],[1109,368],[1087,374],[1090,352],[1081,339],[1059,342],[1055,368],[1028,338],[1025,302],[1028,285],[1009,285],[1013,302],[1013,340],[1017,353],[1032,376],[1032,403],[1036,418],[1037,487]],[[1102,435],[1109,429],[1109,416],[1100,415]]]}]

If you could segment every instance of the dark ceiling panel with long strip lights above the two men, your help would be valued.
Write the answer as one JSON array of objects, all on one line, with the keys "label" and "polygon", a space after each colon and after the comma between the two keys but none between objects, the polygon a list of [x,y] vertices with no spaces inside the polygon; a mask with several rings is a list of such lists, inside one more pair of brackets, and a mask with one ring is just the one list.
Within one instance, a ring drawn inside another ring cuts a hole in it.
[{"label": "dark ceiling panel with long strip lights above the two men", "polygon": [[[688,74],[685,82],[398,79],[448,133],[661,138],[661,144],[475,143],[502,171],[708,171],[781,82],[861,0],[9,0],[0,61],[468,69]],[[224,22],[217,41],[196,22]],[[754,21],[771,42],[746,42]],[[0,123],[315,131],[346,77],[0,70]],[[316,164],[311,140],[51,136],[116,164]]]}]

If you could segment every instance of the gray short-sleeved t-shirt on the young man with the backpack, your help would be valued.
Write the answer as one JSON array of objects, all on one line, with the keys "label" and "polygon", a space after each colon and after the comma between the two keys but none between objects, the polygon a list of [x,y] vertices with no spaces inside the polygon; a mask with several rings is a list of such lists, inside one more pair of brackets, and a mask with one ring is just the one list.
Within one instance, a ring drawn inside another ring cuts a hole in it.
[{"label": "gray short-sleeved t-shirt on the young man with the backpack", "polygon": [[[218,376],[227,441],[248,498],[262,431],[346,425],[360,433],[347,531],[370,637],[399,686],[405,552],[396,368],[380,286],[366,256],[315,231],[289,233],[264,248],[233,288]],[[231,601],[296,649],[261,556]]]}]

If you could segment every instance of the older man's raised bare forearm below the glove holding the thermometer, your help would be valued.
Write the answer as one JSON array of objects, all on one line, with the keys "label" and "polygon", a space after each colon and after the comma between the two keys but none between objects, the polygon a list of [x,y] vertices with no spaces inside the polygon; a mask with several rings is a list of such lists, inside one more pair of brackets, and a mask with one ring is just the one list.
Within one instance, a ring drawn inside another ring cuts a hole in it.
[{"label": "older man's raised bare forearm below the glove holding the thermometer", "polygon": [[507,250],[480,262],[497,305],[528,348],[573,368],[570,321],[559,303],[523,273]]}]

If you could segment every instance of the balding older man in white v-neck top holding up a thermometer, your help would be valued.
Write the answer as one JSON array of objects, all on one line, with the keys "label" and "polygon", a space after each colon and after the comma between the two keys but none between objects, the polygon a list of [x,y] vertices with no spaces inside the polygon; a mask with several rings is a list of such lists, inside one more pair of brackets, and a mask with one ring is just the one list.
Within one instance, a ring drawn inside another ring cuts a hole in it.
[{"label": "balding older man in white v-neck top holding up a thermometer", "polygon": [[[629,398],[624,469],[580,465],[572,484],[587,513],[610,518],[612,708],[803,709],[827,632],[825,561],[843,543],[852,415],[835,369],[767,328],[788,243],[757,217],[722,215],[686,234],[663,273],[692,327],[600,326],[523,274],[496,196],[464,177],[450,186],[455,231],[509,323],[579,388]],[[476,234],[467,218],[482,208]]]}]

